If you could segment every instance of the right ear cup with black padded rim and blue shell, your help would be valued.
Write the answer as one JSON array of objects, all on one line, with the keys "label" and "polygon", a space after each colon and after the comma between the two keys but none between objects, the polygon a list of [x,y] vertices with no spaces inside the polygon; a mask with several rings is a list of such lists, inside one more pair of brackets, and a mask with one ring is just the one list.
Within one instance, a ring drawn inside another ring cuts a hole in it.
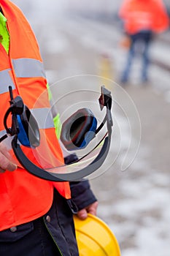
[{"label": "right ear cup with black padded rim and blue shell", "polygon": [[67,150],[85,148],[95,137],[96,117],[88,108],[81,108],[63,122],[61,142]]}]

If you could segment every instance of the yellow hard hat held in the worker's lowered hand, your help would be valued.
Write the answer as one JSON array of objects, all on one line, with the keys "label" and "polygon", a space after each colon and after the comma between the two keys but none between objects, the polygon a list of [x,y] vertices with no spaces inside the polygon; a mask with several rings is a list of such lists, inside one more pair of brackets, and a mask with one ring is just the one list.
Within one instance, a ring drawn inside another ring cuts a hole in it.
[{"label": "yellow hard hat held in the worker's lowered hand", "polygon": [[120,256],[120,246],[106,223],[88,214],[85,220],[74,216],[80,256]]}]

